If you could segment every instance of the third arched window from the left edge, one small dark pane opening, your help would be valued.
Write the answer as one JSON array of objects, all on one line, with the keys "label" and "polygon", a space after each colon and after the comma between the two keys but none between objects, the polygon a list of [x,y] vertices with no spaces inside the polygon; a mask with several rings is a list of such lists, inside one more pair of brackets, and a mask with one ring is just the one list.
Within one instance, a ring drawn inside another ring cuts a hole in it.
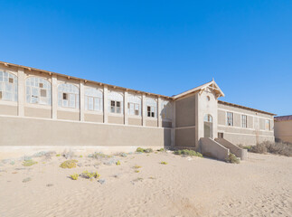
[{"label": "third arched window from the left edge, one small dark pane opening", "polygon": [[73,84],[63,83],[58,86],[59,107],[79,109],[79,88]]}]

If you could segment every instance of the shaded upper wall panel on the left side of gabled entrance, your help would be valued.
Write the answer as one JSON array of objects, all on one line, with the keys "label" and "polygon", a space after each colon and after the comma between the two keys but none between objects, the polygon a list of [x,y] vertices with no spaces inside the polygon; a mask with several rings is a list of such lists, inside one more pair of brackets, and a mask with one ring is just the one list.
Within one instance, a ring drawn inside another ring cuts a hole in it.
[{"label": "shaded upper wall panel on the left side of gabled entrance", "polygon": [[175,101],[175,127],[195,125],[195,95]]}]

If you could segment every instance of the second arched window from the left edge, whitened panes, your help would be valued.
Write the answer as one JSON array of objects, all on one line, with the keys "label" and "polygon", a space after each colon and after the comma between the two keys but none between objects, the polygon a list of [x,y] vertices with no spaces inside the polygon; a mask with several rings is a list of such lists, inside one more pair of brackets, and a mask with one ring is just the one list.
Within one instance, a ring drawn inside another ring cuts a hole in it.
[{"label": "second arched window from the left edge, whitened panes", "polygon": [[26,79],[26,102],[51,105],[51,83],[48,80],[30,77]]}]

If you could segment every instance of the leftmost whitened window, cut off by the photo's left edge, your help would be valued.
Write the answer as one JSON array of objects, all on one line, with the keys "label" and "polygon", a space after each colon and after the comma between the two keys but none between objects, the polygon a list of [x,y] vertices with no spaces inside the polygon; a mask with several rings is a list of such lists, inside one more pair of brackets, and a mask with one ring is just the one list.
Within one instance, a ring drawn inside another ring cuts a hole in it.
[{"label": "leftmost whitened window, cut off by the photo's left edge", "polygon": [[0,71],[0,99],[17,101],[17,77],[7,71]]}]

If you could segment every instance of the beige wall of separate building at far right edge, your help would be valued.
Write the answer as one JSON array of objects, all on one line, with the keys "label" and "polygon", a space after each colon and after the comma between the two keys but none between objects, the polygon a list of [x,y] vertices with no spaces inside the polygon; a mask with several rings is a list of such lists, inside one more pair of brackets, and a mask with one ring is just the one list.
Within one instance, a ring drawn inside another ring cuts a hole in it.
[{"label": "beige wall of separate building at far right edge", "polygon": [[292,143],[292,120],[275,121],[275,137]]}]

